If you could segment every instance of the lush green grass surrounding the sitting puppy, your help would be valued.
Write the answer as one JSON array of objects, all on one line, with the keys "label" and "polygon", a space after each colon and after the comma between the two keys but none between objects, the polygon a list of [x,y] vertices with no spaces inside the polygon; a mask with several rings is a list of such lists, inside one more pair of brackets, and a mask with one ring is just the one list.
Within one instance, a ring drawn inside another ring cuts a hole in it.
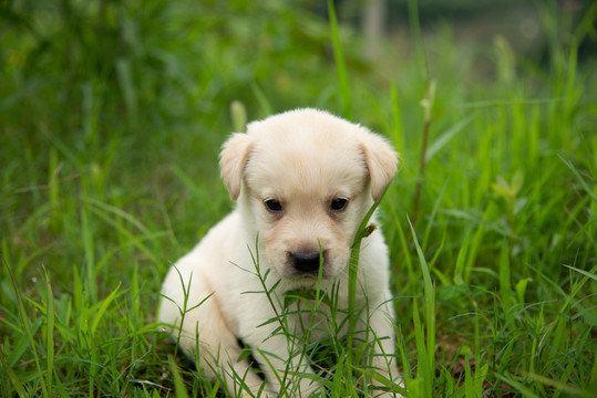
[{"label": "lush green grass surrounding the sitting puppy", "polygon": [[380,208],[410,397],[595,396],[597,7],[537,8],[542,59],[413,20],[411,56],[371,60],[281,1],[1,2],[0,396],[220,394],[157,332],[161,282],[231,206],[227,135],[299,106],[401,151]]}]

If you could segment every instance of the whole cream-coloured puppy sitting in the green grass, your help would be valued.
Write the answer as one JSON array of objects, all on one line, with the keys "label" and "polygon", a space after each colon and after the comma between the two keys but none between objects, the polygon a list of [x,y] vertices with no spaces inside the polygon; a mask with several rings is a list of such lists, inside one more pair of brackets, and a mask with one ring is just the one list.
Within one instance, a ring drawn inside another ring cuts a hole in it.
[{"label": "whole cream-coloured puppy sitting in the green grass", "polygon": [[[318,391],[305,344],[347,332],[351,244],[394,176],[397,157],[367,128],[308,108],[250,123],[226,142],[222,177],[236,209],[169,270],[159,322],[173,326],[187,355],[198,354],[208,375],[225,379],[229,394]],[[285,293],[315,289],[318,277],[334,297],[333,318],[323,304],[317,312],[297,311],[300,300],[285,305]],[[362,241],[356,302],[368,317],[368,338],[379,342],[372,366],[399,380],[390,300],[388,249],[378,229]],[[266,381],[249,370],[239,339]]]}]

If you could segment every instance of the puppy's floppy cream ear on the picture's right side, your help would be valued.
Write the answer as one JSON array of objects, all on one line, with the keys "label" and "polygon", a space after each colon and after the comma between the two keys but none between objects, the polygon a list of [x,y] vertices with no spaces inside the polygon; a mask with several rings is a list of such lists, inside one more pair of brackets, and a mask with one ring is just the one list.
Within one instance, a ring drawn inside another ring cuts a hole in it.
[{"label": "puppy's floppy cream ear on the picture's right side", "polygon": [[371,179],[371,196],[378,202],[398,170],[398,153],[384,138],[366,130],[361,147]]}]

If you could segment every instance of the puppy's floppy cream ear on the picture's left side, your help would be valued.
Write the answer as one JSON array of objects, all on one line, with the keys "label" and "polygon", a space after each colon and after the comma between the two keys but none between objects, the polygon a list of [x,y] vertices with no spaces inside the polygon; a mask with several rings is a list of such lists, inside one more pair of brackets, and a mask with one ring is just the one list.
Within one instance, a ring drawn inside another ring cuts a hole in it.
[{"label": "puppy's floppy cream ear on the picture's left side", "polygon": [[233,200],[240,195],[243,170],[249,159],[253,137],[244,133],[235,133],[222,147],[219,168],[222,179]]}]

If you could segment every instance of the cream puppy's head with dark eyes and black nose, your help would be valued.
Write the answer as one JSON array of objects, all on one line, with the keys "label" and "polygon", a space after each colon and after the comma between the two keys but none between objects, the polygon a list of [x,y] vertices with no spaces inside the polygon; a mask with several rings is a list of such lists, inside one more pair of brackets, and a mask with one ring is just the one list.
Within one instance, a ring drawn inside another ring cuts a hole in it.
[{"label": "cream puppy's head with dark eyes and black nose", "polygon": [[230,197],[246,228],[259,232],[261,264],[297,281],[317,277],[320,263],[323,277],[344,270],[357,229],[397,165],[383,138],[316,109],[250,123],[220,154]]}]

